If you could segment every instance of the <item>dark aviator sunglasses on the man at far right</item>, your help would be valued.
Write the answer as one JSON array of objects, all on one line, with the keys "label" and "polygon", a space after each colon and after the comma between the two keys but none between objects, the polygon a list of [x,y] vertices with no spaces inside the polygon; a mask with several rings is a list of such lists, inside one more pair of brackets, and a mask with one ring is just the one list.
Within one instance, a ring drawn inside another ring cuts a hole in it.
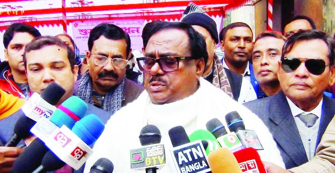
[{"label": "dark aviator sunglasses on the man at far right", "polygon": [[296,70],[300,66],[301,62],[305,62],[305,67],[310,73],[314,75],[320,75],[327,66],[322,59],[284,57],[281,59],[281,61],[282,69],[286,72],[292,72]]}]

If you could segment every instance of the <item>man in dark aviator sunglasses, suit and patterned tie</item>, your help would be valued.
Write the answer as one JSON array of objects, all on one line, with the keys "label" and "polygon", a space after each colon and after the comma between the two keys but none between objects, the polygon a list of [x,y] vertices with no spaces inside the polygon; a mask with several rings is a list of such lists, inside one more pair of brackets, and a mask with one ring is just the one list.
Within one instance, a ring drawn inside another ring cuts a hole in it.
[{"label": "man in dark aviator sunglasses, suit and patterned tie", "polygon": [[322,31],[293,34],[285,42],[278,79],[282,92],[245,103],[268,126],[286,168],[313,158],[335,101],[323,95],[335,82],[334,43]]}]

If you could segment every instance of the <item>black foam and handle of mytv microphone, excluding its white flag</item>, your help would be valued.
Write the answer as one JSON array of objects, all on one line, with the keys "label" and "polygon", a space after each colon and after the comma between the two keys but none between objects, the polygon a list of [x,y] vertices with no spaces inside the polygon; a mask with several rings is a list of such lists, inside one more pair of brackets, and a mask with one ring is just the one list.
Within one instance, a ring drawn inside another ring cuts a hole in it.
[{"label": "black foam and handle of mytv microphone, excluding its white flag", "polygon": [[[65,90],[57,83],[53,82],[41,93],[41,98],[50,105],[56,105],[60,98],[65,94]],[[27,101],[27,104],[29,100]],[[16,146],[21,139],[31,136],[30,129],[36,123],[34,120],[27,117],[22,109],[19,110],[22,117],[16,122],[14,134],[5,146]]]}]

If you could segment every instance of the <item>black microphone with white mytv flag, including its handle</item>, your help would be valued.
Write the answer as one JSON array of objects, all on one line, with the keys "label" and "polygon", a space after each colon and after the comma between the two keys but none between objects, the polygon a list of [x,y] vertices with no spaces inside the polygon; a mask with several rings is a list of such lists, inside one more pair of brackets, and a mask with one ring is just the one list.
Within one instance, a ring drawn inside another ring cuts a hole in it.
[{"label": "black microphone with white mytv flag, including its handle", "polygon": [[[57,95],[54,94],[57,93]],[[32,134],[30,133],[30,129],[33,127],[33,125],[36,123],[34,120],[26,117],[25,115],[29,114],[36,114],[39,110],[45,117],[50,117],[53,111],[48,110],[46,107],[50,107],[51,105],[55,105],[60,98],[65,94],[65,90],[60,87],[59,84],[53,82],[48,85],[47,88],[41,93],[41,96],[37,96],[38,94],[36,93],[35,96],[40,97],[38,100],[44,100],[45,102],[40,101],[41,103],[44,104],[44,107],[42,107],[43,104],[37,105],[36,106],[36,101],[34,100],[35,98],[30,98],[22,107],[20,111],[20,114],[23,116],[16,122],[15,127],[14,127],[14,134],[13,136],[8,140],[8,142],[5,144],[5,146],[16,146],[21,139],[27,138],[31,136]],[[49,106],[45,106],[49,105]],[[30,111],[25,112],[26,107],[31,107]],[[44,108],[44,110],[42,109]],[[47,113],[51,113],[50,115],[47,115]],[[39,114],[38,116],[41,116]]]}]

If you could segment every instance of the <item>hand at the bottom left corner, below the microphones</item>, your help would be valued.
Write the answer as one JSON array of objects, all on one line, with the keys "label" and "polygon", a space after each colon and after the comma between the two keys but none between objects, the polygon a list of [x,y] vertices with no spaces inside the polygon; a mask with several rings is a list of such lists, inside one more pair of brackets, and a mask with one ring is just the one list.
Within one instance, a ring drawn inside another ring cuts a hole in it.
[{"label": "hand at the bottom left corner, below the microphones", "polygon": [[0,173],[11,172],[14,161],[23,151],[23,148],[0,146]]}]

